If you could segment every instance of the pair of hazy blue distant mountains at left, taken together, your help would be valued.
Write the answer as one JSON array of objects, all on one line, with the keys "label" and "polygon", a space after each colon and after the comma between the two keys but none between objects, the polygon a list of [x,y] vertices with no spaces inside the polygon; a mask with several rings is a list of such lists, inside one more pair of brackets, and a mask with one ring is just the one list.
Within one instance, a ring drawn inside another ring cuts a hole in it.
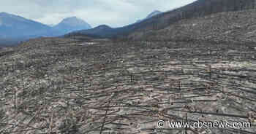
[{"label": "pair of hazy blue distant mountains at left, taken together", "polygon": [[89,29],[91,25],[77,17],[68,17],[58,25],[45,25],[7,12],[0,12],[0,46],[16,44],[41,36],[61,36],[65,33]]}]

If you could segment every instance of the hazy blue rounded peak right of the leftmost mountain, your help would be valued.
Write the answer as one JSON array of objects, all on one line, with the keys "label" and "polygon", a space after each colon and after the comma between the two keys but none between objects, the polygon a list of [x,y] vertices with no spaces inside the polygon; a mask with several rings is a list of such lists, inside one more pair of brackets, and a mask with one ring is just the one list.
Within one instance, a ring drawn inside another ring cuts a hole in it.
[{"label": "hazy blue rounded peak right of the leftmost mountain", "polygon": [[55,25],[53,29],[64,34],[72,31],[91,29],[91,25],[78,17],[67,17],[61,23]]}]

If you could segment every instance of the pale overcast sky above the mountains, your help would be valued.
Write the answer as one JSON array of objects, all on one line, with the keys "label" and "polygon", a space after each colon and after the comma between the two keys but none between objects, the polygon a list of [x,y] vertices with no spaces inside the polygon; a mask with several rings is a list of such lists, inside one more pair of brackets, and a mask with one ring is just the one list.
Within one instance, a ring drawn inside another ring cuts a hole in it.
[{"label": "pale overcast sky above the mountains", "polygon": [[146,17],[154,10],[165,12],[195,0],[1,0],[0,12],[9,12],[45,24],[65,17],[80,17],[93,27],[119,27]]}]

